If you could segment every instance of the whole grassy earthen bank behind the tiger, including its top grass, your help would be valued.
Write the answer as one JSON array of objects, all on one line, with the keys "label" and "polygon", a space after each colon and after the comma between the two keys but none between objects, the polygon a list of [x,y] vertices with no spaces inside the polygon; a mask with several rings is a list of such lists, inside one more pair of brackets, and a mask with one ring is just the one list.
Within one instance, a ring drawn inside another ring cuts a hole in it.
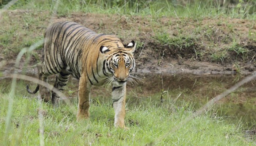
[{"label": "whole grassy earthen bank behind the tiger, including its top grass", "polygon": [[[91,13],[99,15],[91,18],[93,25],[81,15]],[[127,42],[135,39],[138,50],[152,48],[157,58],[255,64],[255,18],[255,2],[242,0],[18,0],[0,22],[0,54],[3,59],[15,57],[42,39],[49,24],[61,19],[116,34]],[[39,61],[40,49],[32,53],[34,60]]]}]

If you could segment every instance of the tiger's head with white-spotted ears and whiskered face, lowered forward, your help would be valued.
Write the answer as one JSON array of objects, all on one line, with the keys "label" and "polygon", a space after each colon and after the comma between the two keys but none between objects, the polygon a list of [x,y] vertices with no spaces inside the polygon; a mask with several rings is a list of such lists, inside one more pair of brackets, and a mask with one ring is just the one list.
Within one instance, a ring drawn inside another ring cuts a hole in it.
[{"label": "tiger's head with white-spotted ears and whiskered face, lowered forward", "polygon": [[103,72],[109,74],[109,82],[118,85],[124,84],[127,80],[133,82],[134,80],[130,73],[135,68],[135,60],[133,52],[135,51],[136,44],[134,41],[123,45],[119,41],[111,46],[101,46],[101,53],[106,55],[103,62]]}]

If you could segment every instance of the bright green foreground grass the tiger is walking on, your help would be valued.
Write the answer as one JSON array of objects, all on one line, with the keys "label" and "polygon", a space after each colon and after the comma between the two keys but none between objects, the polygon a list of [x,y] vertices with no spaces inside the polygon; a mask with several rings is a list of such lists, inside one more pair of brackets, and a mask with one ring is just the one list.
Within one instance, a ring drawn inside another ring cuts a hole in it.
[{"label": "bright green foreground grass the tiger is walking on", "polygon": [[[7,145],[39,145],[39,115],[44,127],[43,139],[47,145],[145,145],[178,126],[191,115],[191,106],[161,106],[154,102],[127,106],[125,124],[129,130],[113,126],[114,111],[110,102],[90,107],[90,119],[76,122],[75,114],[66,104],[53,108],[40,104],[35,97],[15,95],[11,127],[5,133],[8,94],[0,98],[0,142]],[[109,100],[110,101],[110,100]],[[76,105],[76,102],[74,102]],[[216,117],[212,111],[192,119],[177,131],[170,133],[156,145],[253,145],[243,136],[241,124],[230,124]]]}]

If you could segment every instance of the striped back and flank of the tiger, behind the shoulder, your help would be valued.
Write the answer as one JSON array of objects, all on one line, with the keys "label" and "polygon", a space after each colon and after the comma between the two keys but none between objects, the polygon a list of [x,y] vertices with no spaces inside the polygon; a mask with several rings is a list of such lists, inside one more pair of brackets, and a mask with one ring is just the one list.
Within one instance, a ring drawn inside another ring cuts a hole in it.
[{"label": "striped back and flank of the tiger, behind the shoulder", "polygon": [[44,73],[57,74],[67,70],[79,78],[83,51],[90,49],[93,38],[100,34],[74,22],[57,22],[44,34]]}]

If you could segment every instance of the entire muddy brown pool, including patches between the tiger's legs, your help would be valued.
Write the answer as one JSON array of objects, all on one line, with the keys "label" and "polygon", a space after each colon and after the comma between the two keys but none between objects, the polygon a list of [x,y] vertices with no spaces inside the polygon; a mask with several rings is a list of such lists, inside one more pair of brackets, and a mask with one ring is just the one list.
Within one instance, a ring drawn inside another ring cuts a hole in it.
[{"label": "entire muddy brown pool, including patches between the tiger's legs", "polygon": [[[128,106],[140,106],[151,102],[159,106],[162,104],[174,104],[180,107],[184,106],[184,103],[189,103],[193,105],[195,110],[244,78],[243,76],[235,75],[191,74],[141,74],[140,77],[142,81],[138,82],[139,84],[135,87],[128,83]],[[53,84],[53,81],[54,77],[49,78],[50,84]],[[10,90],[10,78],[1,78],[0,83],[2,92]],[[33,83],[18,80],[16,91],[23,97],[31,97],[26,92],[26,84],[31,84],[31,89],[35,88]],[[253,80],[215,104],[214,109],[217,115],[227,117],[231,122],[242,120],[248,126],[256,127],[255,84],[256,80]],[[78,95],[78,80],[72,79],[68,82],[65,94],[72,99],[76,99]],[[97,104],[97,102],[110,103],[110,96],[111,87],[93,87],[91,90],[91,99],[94,104]]]}]

